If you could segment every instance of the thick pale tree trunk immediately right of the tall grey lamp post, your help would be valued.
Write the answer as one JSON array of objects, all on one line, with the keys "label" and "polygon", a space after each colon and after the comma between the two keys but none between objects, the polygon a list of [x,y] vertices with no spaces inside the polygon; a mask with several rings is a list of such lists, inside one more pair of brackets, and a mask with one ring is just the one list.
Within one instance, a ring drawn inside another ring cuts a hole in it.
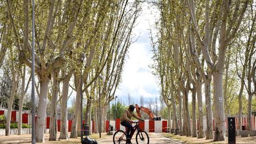
[{"label": "thick pale tree trunk immediately right of the tall grey lamp post", "polygon": [[46,119],[46,108],[47,108],[47,94],[48,94],[48,75],[40,77],[40,95],[39,105],[36,119],[36,142],[45,142],[44,130],[45,130],[45,119]]}]

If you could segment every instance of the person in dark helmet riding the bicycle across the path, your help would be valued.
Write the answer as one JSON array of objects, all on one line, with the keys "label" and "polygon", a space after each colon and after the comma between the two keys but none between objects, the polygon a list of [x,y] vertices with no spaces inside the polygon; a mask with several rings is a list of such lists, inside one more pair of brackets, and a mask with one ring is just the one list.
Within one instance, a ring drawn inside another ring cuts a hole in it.
[{"label": "person in dark helmet riding the bicycle across the path", "polygon": [[128,109],[124,110],[124,114],[122,114],[122,117],[121,117],[121,125],[127,128],[127,137],[126,137],[127,143],[131,143],[130,142],[131,135],[135,132],[135,129],[132,127],[132,121],[131,121],[132,117],[135,117],[140,121],[143,121],[143,119],[141,119],[140,117],[138,117],[133,113],[134,109],[135,109],[135,106],[130,105]]}]

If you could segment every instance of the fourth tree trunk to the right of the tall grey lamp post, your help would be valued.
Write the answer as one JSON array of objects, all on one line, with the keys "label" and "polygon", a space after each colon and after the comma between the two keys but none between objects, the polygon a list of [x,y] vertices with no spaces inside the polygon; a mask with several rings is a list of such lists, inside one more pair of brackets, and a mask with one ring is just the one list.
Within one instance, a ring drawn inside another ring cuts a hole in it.
[{"label": "fourth tree trunk to the right of the tall grey lamp post", "polygon": [[[77,121],[78,121],[78,116],[79,116],[79,109],[80,109],[80,76],[75,76],[79,82],[76,85],[76,91],[77,95],[75,96],[75,111],[74,111],[74,116],[72,119],[72,127],[71,127],[71,132],[70,132],[70,138],[77,138]],[[79,126],[80,127],[80,126]]]}]

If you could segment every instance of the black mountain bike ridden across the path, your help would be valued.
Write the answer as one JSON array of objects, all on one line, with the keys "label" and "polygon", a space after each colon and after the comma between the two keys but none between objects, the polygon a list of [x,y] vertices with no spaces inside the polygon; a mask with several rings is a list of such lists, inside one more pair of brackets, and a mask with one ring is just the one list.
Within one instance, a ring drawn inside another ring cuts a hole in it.
[{"label": "black mountain bike ridden across the path", "polygon": [[[135,123],[135,126],[133,128],[135,129],[135,131],[137,130],[136,137],[135,137],[136,143],[137,144],[139,144],[139,143],[149,144],[148,133],[145,132],[144,130],[140,129],[139,121],[132,122],[132,123]],[[132,136],[134,135],[134,133],[132,133],[131,139],[132,139]],[[114,142],[114,144],[126,143],[126,140],[127,140],[126,137],[127,137],[127,129],[126,129],[126,132],[124,132],[123,130],[117,130],[113,135],[113,142]]]}]

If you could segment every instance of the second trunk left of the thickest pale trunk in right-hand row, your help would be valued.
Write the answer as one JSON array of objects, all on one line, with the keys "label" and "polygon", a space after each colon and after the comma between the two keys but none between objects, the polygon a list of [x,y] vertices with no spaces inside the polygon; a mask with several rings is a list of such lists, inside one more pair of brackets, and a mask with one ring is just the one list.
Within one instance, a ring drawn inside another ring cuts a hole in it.
[{"label": "second trunk left of the thickest pale trunk in right-hand row", "polygon": [[197,138],[204,138],[205,131],[203,130],[203,102],[202,102],[202,82],[197,83],[197,106],[198,106],[198,135]]}]

